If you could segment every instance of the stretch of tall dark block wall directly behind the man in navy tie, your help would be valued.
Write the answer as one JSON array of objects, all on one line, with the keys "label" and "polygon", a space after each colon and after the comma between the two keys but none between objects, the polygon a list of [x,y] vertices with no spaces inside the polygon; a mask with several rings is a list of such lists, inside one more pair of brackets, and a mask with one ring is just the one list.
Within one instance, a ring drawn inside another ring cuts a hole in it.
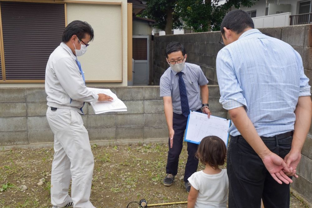
[{"label": "stretch of tall dark block wall directly behind the man in navy tie", "polygon": [[166,46],[172,41],[184,44],[187,62],[200,65],[209,81],[209,85],[217,85],[216,58],[222,49],[219,43],[220,32],[201,32],[181,35],[154,36],[154,85],[169,67],[166,61]]}]

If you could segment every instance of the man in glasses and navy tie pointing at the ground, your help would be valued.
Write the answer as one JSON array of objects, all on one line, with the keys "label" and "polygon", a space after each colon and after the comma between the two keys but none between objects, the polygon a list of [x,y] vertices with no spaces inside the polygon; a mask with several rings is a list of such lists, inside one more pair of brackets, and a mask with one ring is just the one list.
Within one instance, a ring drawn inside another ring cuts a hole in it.
[{"label": "man in glasses and navy tie pointing at the ground", "polygon": [[[160,78],[160,96],[163,97],[169,130],[167,176],[163,180],[163,185],[171,186],[174,176],[178,173],[179,156],[183,147],[183,135],[190,110],[203,111],[208,114],[208,117],[210,110],[208,80],[200,66],[185,63],[187,55],[184,46],[177,42],[171,42],[166,48],[166,55],[169,68]],[[184,172],[184,186],[187,192],[191,189],[188,178],[197,171],[198,167],[198,159],[195,158],[197,147],[197,144],[188,142],[188,160]]]}]

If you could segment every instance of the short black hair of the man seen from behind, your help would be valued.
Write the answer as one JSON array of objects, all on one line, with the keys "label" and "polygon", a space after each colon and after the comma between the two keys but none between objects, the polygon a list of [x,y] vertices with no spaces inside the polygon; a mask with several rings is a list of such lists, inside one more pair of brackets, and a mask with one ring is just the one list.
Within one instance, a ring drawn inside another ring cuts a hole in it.
[{"label": "short black hair of the man seen from behind", "polygon": [[221,23],[221,33],[224,33],[224,27],[228,30],[232,30],[237,34],[240,34],[246,28],[255,28],[255,25],[250,17],[250,15],[243,10],[233,10],[223,18]]}]

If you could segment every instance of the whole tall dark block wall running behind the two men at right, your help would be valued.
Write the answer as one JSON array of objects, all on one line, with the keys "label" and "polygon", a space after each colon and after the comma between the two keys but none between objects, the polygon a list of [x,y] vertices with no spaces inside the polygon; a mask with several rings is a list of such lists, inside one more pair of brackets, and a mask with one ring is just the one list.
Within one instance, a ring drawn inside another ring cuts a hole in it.
[{"label": "whole tall dark block wall running behind the two men at right", "polygon": [[[312,86],[312,25],[261,28],[259,30],[293,46],[302,57],[305,75],[310,79],[309,84]],[[219,44],[220,38],[221,32],[155,36],[154,85],[159,85],[161,75],[168,68],[165,49],[172,41],[184,44],[188,55],[187,62],[200,65],[209,84],[217,84],[216,56],[223,47]],[[312,203],[312,126],[305,141],[297,171],[299,178],[294,179],[292,187]],[[312,204],[310,205],[312,207]]]}]

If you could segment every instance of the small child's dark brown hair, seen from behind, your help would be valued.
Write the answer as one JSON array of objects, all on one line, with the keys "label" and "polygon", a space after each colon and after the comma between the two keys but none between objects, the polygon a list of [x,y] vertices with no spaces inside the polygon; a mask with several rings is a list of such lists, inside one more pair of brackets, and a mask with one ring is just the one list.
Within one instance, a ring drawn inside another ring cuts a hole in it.
[{"label": "small child's dark brown hair, seen from behind", "polygon": [[202,164],[217,169],[219,165],[224,165],[227,157],[227,147],[219,137],[208,136],[200,142],[196,157]]}]

